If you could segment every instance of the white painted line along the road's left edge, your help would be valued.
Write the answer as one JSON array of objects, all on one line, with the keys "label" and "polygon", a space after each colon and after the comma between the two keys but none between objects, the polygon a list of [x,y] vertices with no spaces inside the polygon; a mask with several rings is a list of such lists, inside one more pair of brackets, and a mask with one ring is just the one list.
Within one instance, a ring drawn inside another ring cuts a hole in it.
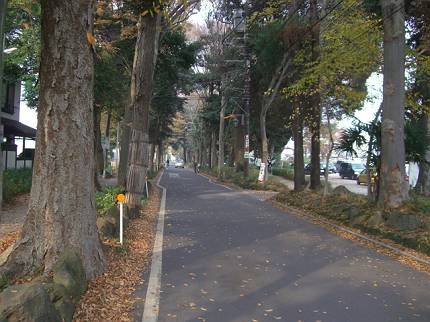
[{"label": "white painted line along the road's left edge", "polygon": [[[164,173],[163,173],[164,174]],[[157,181],[157,186],[163,190],[161,197],[160,212],[158,214],[157,232],[155,235],[154,249],[152,252],[151,273],[149,275],[148,289],[146,291],[145,307],[143,309],[142,322],[157,322],[160,311],[160,288],[161,288],[161,268],[163,257],[163,233],[164,216],[166,214],[166,191],[160,185],[161,174]]]}]

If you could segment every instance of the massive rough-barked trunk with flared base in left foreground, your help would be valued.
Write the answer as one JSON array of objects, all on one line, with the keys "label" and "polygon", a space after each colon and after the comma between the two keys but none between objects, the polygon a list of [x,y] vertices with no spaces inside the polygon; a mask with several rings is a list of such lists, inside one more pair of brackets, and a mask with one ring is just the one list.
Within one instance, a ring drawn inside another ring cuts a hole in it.
[{"label": "massive rough-barked trunk with flared base in left foreground", "polygon": [[87,278],[104,257],[96,226],[93,141],[93,1],[43,0],[40,103],[30,204],[2,270],[52,270],[66,248]]}]

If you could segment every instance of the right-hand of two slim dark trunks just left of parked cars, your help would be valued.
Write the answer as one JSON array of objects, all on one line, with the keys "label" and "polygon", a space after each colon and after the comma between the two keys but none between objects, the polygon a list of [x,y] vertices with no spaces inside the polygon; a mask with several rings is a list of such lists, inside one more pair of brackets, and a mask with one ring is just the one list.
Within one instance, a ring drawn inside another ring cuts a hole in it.
[{"label": "right-hand of two slim dark trunks just left of parked cars", "polygon": [[[310,3],[311,21],[316,22],[318,18],[318,1],[312,0]],[[312,29],[312,61],[319,59],[320,28],[316,25]],[[311,96],[311,119],[309,129],[311,131],[311,184],[312,190],[321,188],[320,177],[320,129],[321,129],[321,97],[319,94],[319,84],[315,84],[315,93]]]}]

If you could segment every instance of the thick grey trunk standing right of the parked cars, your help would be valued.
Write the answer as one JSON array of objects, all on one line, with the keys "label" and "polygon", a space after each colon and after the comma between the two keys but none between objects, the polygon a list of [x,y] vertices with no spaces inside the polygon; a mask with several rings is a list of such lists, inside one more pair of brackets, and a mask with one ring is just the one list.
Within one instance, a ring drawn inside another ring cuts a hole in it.
[{"label": "thick grey trunk standing right of the parked cars", "polygon": [[405,14],[404,0],[382,0],[384,93],[378,205],[399,207],[409,198],[405,180]]}]

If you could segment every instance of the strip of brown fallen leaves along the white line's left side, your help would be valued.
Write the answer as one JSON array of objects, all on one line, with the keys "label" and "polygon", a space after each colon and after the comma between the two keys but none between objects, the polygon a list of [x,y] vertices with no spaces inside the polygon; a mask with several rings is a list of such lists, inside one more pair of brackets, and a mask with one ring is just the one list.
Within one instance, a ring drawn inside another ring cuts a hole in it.
[{"label": "strip of brown fallen leaves along the white line's left side", "polygon": [[106,271],[88,285],[76,307],[74,322],[133,321],[134,291],[143,284],[142,272],[150,264],[160,191],[155,190],[139,218],[131,219],[125,231],[125,246],[105,240]]}]

